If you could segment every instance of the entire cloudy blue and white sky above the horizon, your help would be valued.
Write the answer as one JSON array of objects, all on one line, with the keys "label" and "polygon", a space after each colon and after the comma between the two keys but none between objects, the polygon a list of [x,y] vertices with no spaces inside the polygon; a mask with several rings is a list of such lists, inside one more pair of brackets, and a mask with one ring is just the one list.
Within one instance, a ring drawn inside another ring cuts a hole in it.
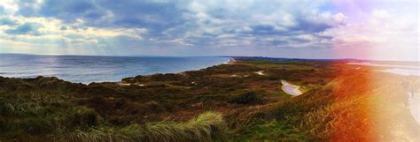
[{"label": "entire cloudy blue and white sky above the horizon", "polygon": [[419,61],[419,0],[0,0],[0,53]]}]

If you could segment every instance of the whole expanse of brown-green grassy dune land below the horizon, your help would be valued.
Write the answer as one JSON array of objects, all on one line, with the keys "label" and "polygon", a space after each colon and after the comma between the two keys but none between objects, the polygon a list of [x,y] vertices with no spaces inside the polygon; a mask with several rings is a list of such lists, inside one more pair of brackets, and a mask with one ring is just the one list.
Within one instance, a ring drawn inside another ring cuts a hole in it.
[{"label": "whole expanse of brown-green grassy dune land below the horizon", "polygon": [[419,78],[346,60],[236,60],[89,85],[0,77],[0,141],[420,140],[401,87]]}]

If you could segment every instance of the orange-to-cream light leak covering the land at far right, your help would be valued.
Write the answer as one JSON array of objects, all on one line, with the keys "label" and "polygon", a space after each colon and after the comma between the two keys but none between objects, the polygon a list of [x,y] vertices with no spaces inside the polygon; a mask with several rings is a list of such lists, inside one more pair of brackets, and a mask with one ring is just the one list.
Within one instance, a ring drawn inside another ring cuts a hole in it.
[{"label": "orange-to-cream light leak covering the land at far right", "polygon": [[331,141],[420,140],[413,115],[420,111],[418,76],[383,72],[386,67],[335,66],[339,71],[333,80],[333,123],[327,127],[333,131]]}]

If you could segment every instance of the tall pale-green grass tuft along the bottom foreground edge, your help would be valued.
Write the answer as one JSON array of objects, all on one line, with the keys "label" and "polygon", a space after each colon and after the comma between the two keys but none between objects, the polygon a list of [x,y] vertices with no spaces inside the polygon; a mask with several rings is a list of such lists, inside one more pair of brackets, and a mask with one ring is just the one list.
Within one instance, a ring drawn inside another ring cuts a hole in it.
[{"label": "tall pale-green grass tuft along the bottom foreground edge", "polygon": [[116,128],[109,126],[93,127],[89,130],[76,130],[57,141],[224,141],[226,140],[226,123],[222,114],[203,113],[185,123],[163,121],[131,124]]}]

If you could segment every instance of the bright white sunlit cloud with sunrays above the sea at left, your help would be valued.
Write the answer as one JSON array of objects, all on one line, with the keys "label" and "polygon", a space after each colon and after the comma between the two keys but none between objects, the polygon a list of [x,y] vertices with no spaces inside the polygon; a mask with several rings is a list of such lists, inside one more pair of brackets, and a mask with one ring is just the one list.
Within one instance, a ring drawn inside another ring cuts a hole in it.
[{"label": "bright white sunlit cloud with sunrays above the sea at left", "polygon": [[[113,55],[119,53],[114,49],[129,49],[138,42],[143,41],[144,28],[106,27],[98,28],[84,26],[83,21],[66,23],[59,19],[23,16],[0,16],[17,23],[12,26],[0,26],[0,43],[2,51],[36,54],[88,54],[95,53],[92,49],[109,49],[102,53]],[[25,43],[25,44],[24,44]],[[118,44],[117,44],[118,43]],[[27,48],[15,48],[25,46]],[[129,52],[128,52],[129,53]]]}]

